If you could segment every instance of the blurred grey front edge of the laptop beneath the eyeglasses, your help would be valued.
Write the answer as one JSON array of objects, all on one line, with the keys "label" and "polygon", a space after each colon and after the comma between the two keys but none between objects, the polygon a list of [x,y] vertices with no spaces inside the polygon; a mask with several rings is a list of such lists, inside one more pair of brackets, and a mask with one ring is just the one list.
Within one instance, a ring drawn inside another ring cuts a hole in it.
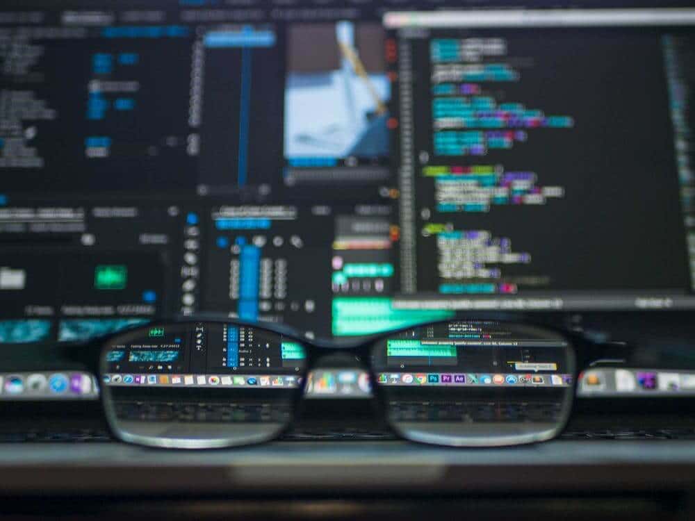
[{"label": "blurred grey front edge of the laptop beneath the eyeglasses", "polygon": [[0,445],[0,494],[243,495],[695,490],[695,442],[555,441],[506,449],[285,442],[211,451]]}]

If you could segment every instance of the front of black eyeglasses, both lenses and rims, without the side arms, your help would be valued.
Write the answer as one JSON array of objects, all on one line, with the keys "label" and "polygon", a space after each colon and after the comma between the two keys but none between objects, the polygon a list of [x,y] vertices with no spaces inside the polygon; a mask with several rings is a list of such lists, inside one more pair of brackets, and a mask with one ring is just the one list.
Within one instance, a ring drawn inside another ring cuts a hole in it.
[{"label": "front of black eyeglasses, both lenses and rims, without the side arms", "polygon": [[[581,340],[579,340],[581,341]],[[575,395],[577,339],[529,324],[450,320],[353,344],[281,326],[167,322],[101,342],[101,399],[115,438],[177,449],[238,447],[291,428],[312,373],[349,355],[377,409],[407,440],[453,447],[555,438]]]}]

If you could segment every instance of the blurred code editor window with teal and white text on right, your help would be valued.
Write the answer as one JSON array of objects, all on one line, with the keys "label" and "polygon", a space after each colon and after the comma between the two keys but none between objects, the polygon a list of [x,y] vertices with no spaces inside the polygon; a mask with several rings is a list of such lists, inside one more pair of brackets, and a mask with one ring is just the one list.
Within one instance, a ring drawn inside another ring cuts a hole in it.
[{"label": "blurred code editor window with teal and white text on right", "polygon": [[399,78],[396,308],[693,305],[679,204],[692,176],[674,154],[692,87],[669,53],[673,38],[680,56],[693,48],[695,18],[611,13],[386,15]]}]

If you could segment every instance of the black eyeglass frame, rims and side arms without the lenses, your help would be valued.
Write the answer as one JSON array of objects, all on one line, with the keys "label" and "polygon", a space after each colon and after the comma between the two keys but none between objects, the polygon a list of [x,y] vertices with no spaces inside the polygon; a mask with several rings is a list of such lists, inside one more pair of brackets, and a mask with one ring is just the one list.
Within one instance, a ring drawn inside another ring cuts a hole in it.
[{"label": "black eyeglass frame, rims and side arms without the lenses", "polygon": [[[384,388],[383,386],[380,386],[379,383],[377,383],[377,374],[373,370],[373,366],[370,363],[370,355],[371,351],[375,345],[375,343],[379,342],[380,340],[384,340],[385,338],[392,336],[394,334],[402,333],[404,331],[411,331],[413,329],[418,329],[421,327],[426,327],[426,326],[436,326],[437,324],[445,324],[448,322],[494,322],[496,324],[499,324],[501,326],[504,326],[505,324],[509,324],[510,326],[524,326],[527,328],[535,328],[539,329],[545,333],[553,333],[556,336],[559,336],[560,338],[563,338],[567,342],[567,347],[568,347],[568,367],[567,367],[567,372],[572,375],[572,397],[571,399],[566,401],[566,404],[564,404],[563,410],[562,410],[562,415],[561,419],[557,424],[557,428],[551,429],[551,431],[545,431],[541,433],[533,433],[533,434],[526,434],[526,435],[518,435],[514,436],[514,440],[507,440],[505,441],[505,438],[497,438],[497,443],[471,443],[471,440],[469,438],[467,443],[461,443],[461,440],[452,437],[450,440],[448,440],[448,443],[441,443],[441,436],[438,436],[440,438],[439,440],[427,440],[423,438],[414,438],[413,436],[409,436],[407,433],[403,433],[397,426],[391,422],[389,419],[389,415],[386,413],[387,408],[386,408],[386,397],[384,395]],[[162,440],[156,440],[154,437],[152,439],[146,439],[146,438],[140,438],[138,436],[131,437],[130,439],[128,436],[124,436],[124,433],[117,431],[117,429],[113,428],[111,419],[110,419],[110,414],[114,414],[115,411],[113,410],[113,404],[111,400],[109,399],[110,394],[108,390],[108,386],[104,385],[104,380],[103,380],[103,372],[102,372],[102,367],[101,367],[101,354],[102,350],[104,349],[104,346],[108,344],[108,342],[111,342],[115,338],[119,338],[122,336],[127,335],[128,333],[137,331],[139,329],[142,329],[144,327],[153,327],[153,326],[172,326],[172,325],[181,325],[181,324],[211,324],[211,323],[219,323],[219,324],[234,324],[238,326],[247,326],[247,327],[254,327],[257,329],[261,329],[263,331],[268,331],[271,333],[277,333],[279,335],[282,335],[287,338],[287,340],[293,340],[296,342],[300,342],[302,344],[302,347],[304,347],[306,351],[306,358],[304,362],[304,367],[302,368],[302,374],[301,376],[303,377],[303,382],[304,385],[302,386],[297,386],[294,388],[293,391],[293,397],[291,400],[291,410],[293,412],[293,417],[290,422],[275,433],[272,437],[269,437],[267,439],[260,439],[256,440],[253,443],[199,443],[199,444],[193,444],[188,447],[184,446],[177,446],[177,447],[172,447],[170,443],[162,443]],[[416,323],[416,324],[410,324],[408,326],[404,326],[398,329],[392,329],[389,331],[382,331],[380,333],[376,333],[370,336],[363,336],[360,337],[359,340],[353,341],[353,340],[313,340],[312,338],[309,338],[305,335],[302,335],[302,333],[296,331],[295,329],[292,329],[288,326],[284,326],[283,324],[274,324],[272,322],[252,322],[252,321],[247,321],[247,320],[238,320],[236,318],[220,318],[215,317],[211,319],[207,319],[206,317],[204,318],[199,318],[195,317],[194,319],[183,319],[183,320],[163,320],[163,321],[158,321],[158,322],[150,322],[148,324],[139,324],[137,326],[131,326],[126,329],[122,329],[120,331],[117,331],[115,333],[110,333],[107,336],[102,336],[99,338],[94,338],[91,340],[88,340],[86,342],[80,342],[80,343],[73,343],[73,344],[63,344],[63,345],[58,345],[58,347],[52,347],[52,346],[34,346],[32,349],[26,349],[22,351],[22,354],[14,354],[13,356],[9,356],[9,361],[11,361],[12,365],[16,367],[16,369],[13,370],[24,370],[26,367],[26,363],[31,363],[31,365],[35,365],[35,361],[37,358],[41,360],[50,360],[51,358],[58,359],[58,362],[56,362],[58,365],[60,365],[61,370],[65,370],[67,367],[70,367],[70,370],[78,370],[78,367],[76,365],[81,365],[80,369],[86,370],[90,372],[91,374],[94,374],[97,377],[97,381],[99,381],[99,387],[100,387],[100,400],[101,400],[101,405],[104,410],[104,415],[106,417],[106,425],[108,427],[109,433],[111,436],[117,440],[121,440],[124,443],[132,443],[135,445],[140,445],[140,446],[147,446],[147,447],[154,447],[154,448],[175,448],[175,449],[188,449],[188,448],[195,448],[195,449],[214,449],[214,448],[231,448],[231,447],[244,447],[244,446],[250,446],[250,445],[256,445],[258,443],[269,443],[273,440],[277,440],[278,438],[281,438],[281,436],[284,435],[288,430],[290,430],[293,426],[293,422],[296,417],[297,411],[300,410],[300,406],[306,397],[305,395],[305,385],[306,385],[306,376],[314,369],[316,369],[316,363],[321,359],[324,358],[325,356],[330,356],[332,354],[342,354],[342,355],[348,355],[348,356],[355,356],[359,363],[361,364],[361,367],[363,370],[366,370],[370,377],[370,381],[372,382],[372,393],[373,393],[373,399],[375,400],[375,406],[377,409],[377,413],[382,415],[386,421],[386,425],[395,433],[396,436],[399,438],[402,438],[404,440],[409,440],[415,443],[426,443],[429,445],[440,445],[440,446],[448,446],[448,447],[504,447],[504,446],[512,446],[512,445],[526,445],[529,443],[539,443],[547,440],[551,440],[553,438],[557,438],[562,431],[564,431],[567,423],[569,422],[571,418],[571,412],[574,407],[574,402],[576,400],[576,390],[577,390],[577,382],[578,382],[578,377],[580,374],[580,370],[582,367],[587,367],[588,362],[592,361],[596,358],[600,358],[600,356],[605,356],[605,348],[607,344],[602,344],[600,342],[596,342],[594,340],[591,340],[589,338],[586,338],[583,336],[581,333],[577,333],[575,331],[566,331],[564,329],[554,327],[554,326],[548,326],[546,324],[536,324],[533,322],[528,322],[528,321],[523,321],[523,322],[514,322],[514,321],[509,321],[509,320],[497,320],[497,319],[491,319],[491,318],[477,318],[477,317],[471,317],[471,318],[454,318],[452,320],[438,320],[435,322],[422,322],[422,323]],[[614,346],[611,346],[614,347]],[[621,348],[623,346],[619,346]],[[3,362],[4,360],[7,360],[7,357],[0,356],[0,363]],[[578,360],[580,361],[578,363]],[[42,363],[42,370],[47,370],[45,367],[45,363]],[[51,369],[58,368],[58,365],[54,365],[51,367]],[[51,370],[49,369],[49,370]],[[105,392],[106,390],[106,392]]]}]

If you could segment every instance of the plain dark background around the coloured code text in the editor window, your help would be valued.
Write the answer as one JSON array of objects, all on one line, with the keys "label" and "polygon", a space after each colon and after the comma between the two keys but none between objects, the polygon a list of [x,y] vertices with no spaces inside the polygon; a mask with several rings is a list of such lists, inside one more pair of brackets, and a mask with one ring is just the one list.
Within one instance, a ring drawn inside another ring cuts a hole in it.
[{"label": "plain dark background around the coloured code text in the editor window", "polygon": [[[414,44],[418,66],[416,148],[431,165],[504,165],[532,171],[537,185],[564,187],[543,206],[493,206],[488,213],[433,213],[427,222],[488,230],[529,252],[527,265],[505,274],[548,276],[539,290],[687,288],[686,242],[678,201],[667,80],[660,33],[646,29],[539,29],[441,32],[433,37],[504,37],[518,83],[483,83],[498,102],[518,102],[546,115],[570,115],[572,129],[529,129],[526,142],[486,156],[432,157],[430,48]],[[499,61],[504,61],[502,58]],[[487,62],[494,61],[491,58]],[[507,63],[507,62],[505,62]],[[419,101],[418,101],[419,100]],[[434,208],[434,183],[420,177],[416,206]],[[425,221],[418,220],[418,233]],[[436,291],[436,238],[419,238],[418,290]]]}]

